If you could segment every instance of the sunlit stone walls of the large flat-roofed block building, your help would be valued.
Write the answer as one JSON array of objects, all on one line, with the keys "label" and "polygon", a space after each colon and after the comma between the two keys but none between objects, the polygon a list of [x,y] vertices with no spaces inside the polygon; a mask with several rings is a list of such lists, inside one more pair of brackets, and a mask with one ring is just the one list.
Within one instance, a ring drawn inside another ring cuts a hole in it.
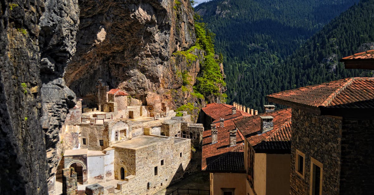
[{"label": "sunlit stone walls of the large flat-roofed block building", "polygon": [[[179,141],[175,142],[174,139]],[[115,148],[116,161],[123,163],[128,171],[125,181],[120,183],[117,189],[120,189],[122,194],[154,194],[165,189],[183,177],[191,158],[190,148],[189,139],[173,137],[165,137],[165,141],[137,150]],[[135,172],[133,165],[128,165],[120,159],[135,159]],[[116,176],[120,167],[121,165],[116,163]],[[157,175],[154,172],[155,167],[157,167]]]}]

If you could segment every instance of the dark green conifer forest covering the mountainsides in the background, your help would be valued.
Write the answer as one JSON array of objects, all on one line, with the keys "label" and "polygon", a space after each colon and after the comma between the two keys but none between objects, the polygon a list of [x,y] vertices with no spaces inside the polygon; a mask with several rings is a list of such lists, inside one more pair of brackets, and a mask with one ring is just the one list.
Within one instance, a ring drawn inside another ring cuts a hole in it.
[{"label": "dark green conifer forest covering the mountainsides in the background", "polygon": [[262,112],[271,93],[371,74],[346,70],[338,61],[373,46],[374,0],[293,0],[286,6],[279,0],[217,0],[195,11],[217,34],[227,103]]}]

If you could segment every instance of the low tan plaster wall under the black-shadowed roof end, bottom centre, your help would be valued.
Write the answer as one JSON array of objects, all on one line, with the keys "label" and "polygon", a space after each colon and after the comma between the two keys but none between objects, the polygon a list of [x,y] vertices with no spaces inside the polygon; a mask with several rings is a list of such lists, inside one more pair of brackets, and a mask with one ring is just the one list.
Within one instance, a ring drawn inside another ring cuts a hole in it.
[{"label": "low tan plaster wall under the black-shadowed roof end, bottom centre", "polygon": [[213,194],[223,195],[221,188],[235,188],[235,195],[246,194],[246,174],[213,173]]}]

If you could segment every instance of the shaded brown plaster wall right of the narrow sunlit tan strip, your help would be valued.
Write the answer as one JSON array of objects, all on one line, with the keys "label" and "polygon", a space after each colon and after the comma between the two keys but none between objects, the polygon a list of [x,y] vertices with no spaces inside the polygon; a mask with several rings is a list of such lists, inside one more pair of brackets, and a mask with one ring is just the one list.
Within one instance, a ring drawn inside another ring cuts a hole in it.
[{"label": "shaded brown plaster wall right of the narrow sunlit tan strip", "polygon": [[266,194],[289,194],[290,154],[266,155]]}]

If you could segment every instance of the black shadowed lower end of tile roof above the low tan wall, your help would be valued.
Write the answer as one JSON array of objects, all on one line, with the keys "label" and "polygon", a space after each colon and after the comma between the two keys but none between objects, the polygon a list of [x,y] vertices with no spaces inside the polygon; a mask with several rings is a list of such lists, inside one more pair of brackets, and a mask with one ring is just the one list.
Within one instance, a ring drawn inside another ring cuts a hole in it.
[{"label": "black shadowed lower end of tile roof above the low tan wall", "polygon": [[214,172],[243,172],[244,170],[244,146],[239,145],[232,151],[221,154],[216,160],[206,166],[206,171]]}]

